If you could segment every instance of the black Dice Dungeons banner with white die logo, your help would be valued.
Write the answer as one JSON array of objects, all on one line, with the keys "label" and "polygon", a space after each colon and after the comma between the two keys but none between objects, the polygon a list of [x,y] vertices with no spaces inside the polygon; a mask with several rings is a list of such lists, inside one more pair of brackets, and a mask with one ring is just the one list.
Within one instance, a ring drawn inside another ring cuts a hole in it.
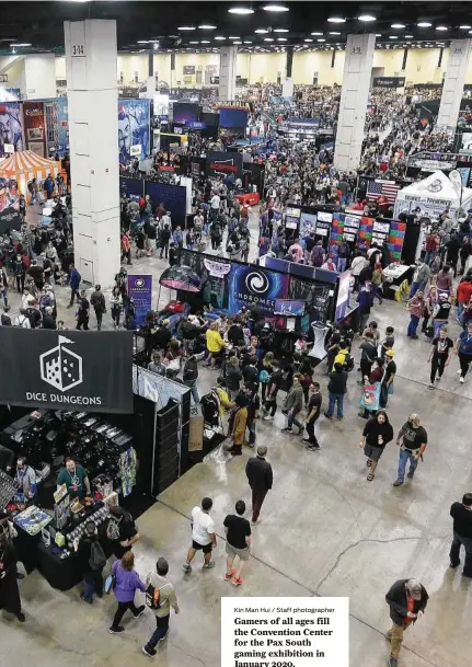
[{"label": "black Dice Dungeons banner with white die logo", "polygon": [[0,404],[133,413],[133,333],[0,326]]}]

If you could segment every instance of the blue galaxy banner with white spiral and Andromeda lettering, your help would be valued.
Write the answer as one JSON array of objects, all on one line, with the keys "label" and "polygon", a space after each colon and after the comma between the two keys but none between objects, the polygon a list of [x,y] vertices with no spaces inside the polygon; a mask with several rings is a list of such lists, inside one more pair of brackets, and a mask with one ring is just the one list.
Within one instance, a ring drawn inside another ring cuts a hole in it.
[{"label": "blue galaxy banner with white spiral and Andromeda lettering", "polygon": [[264,315],[273,315],[276,299],[288,297],[289,275],[256,266],[232,264],[229,278],[229,312],[243,306],[256,307]]}]

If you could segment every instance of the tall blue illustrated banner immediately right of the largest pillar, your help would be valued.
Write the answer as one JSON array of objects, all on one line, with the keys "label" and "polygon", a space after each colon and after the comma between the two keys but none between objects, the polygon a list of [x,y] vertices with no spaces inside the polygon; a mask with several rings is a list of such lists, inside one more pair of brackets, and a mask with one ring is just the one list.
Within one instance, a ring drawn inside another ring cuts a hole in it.
[{"label": "tall blue illustrated banner immediately right of the largest pillar", "polygon": [[[150,153],[149,124],[151,101],[145,99],[118,100],[118,149],[120,164],[128,164],[133,152],[143,160]],[[131,151],[134,147],[134,151]]]}]

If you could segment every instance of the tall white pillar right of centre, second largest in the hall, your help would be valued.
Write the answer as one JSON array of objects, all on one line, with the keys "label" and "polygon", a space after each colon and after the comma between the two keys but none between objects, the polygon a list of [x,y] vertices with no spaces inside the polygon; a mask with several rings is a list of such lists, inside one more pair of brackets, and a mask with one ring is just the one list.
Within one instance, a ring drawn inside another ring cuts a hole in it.
[{"label": "tall white pillar right of centre, second largest in the hall", "polygon": [[334,148],[334,165],[342,171],[359,165],[375,46],[375,35],[347,35]]}]

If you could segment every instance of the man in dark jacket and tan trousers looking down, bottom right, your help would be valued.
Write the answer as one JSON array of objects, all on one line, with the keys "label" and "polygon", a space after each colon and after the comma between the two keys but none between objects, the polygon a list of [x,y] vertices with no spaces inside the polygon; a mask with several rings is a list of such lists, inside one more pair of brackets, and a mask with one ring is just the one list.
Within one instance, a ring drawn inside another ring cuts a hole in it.
[{"label": "man in dark jacket and tan trousers looking down, bottom right", "polygon": [[387,633],[390,642],[389,667],[398,667],[403,633],[422,618],[428,598],[426,588],[417,579],[399,579],[385,595],[392,619],[392,628]]}]

